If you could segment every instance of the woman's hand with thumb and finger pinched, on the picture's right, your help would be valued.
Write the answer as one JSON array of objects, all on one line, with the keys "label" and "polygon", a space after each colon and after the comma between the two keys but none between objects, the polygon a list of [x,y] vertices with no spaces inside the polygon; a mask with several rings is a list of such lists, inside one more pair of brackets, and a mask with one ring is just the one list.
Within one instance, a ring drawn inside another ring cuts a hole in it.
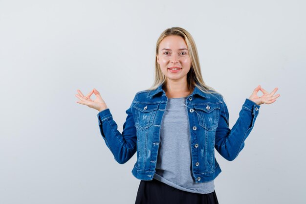
[{"label": "woman's hand with thumb and finger pinched, on the picture's right", "polygon": [[[258,91],[262,91],[263,95],[258,96]],[[278,98],[281,94],[275,94],[275,92],[278,90],[278,88],[275,88],[271,93],[268,93],[264,89],[262,89],[261,85],[255,88],[252,95],[249,97],[249,99],[253,102],[255,102],[257,105],[261,105],[263,103],[265,104],[271,104],[274,101],[276,101],[276,98]],[[273,96],[274,95],[274,96]]]}]

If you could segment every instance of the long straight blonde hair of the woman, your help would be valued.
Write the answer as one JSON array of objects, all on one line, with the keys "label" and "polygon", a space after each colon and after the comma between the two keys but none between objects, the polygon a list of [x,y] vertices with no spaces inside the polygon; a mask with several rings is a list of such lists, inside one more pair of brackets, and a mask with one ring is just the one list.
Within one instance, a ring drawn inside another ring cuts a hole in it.
[{"label": "long straight blonde hair of the woman", "polygon": [[149,90],[157,89],[157,87],[159,85],[164,84],[164,82],[166,81],[166,77],[162,73],[162,71],[160,69],[160,66],[157,63],[157,55],[158,55],[158,49],[159,49],[160,42],[164,38],[166,38],[167,36],[171,36],[171,35],[181,36],[187,44],[189,56],[190,56],[190,59],[191,59],[191,68],[190,68],[190,70],[187,74],[188,90],[192,90],[196,86],[199,90],[201,90],[205,93],[212,93],[212,92],[219,93],[215,89],[213,89],[212,87],[205,84],[205,82],[202,78],[202,74],[201,74],[201,68],[200,68],[200,63],[199,63],[199,59],[198,59],[198,55],[197,55],[197,46],[195,44],[195,41],[194,41],[193,37],[191,36],[191,34],[187,30],[185,30],[181,27],[168,28],[160,34],[160,36],[159,36],[159,38],[156,42],[155,79],[154,79],[153,85],[147,90],[149,91]]}]

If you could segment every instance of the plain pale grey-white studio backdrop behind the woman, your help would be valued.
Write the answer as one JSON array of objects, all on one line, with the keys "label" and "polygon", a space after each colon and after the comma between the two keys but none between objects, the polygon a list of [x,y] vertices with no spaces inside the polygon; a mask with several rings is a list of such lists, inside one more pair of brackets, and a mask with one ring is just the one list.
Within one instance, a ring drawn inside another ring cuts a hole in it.
[{"label": "plain pale grey-white studio backdrop behind the woman", "polygon": [[303,0],[0,0],[0,203],[133,204],[136,154],[114,160],[98,111],[76,103],[76,90],[100,91],[122,131],[135,93],[153,84],[157,38],[180,26],[204,81],[225,97],[230,128],[258,85],[281,94],[261,105],[237,159],[216,151],[219,203],[304,204],[305,9]]}]

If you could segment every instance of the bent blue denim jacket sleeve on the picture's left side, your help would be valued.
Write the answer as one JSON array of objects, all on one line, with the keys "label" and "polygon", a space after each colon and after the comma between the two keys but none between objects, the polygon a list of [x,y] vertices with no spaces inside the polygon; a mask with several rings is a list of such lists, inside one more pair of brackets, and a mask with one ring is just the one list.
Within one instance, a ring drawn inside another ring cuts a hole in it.
[{"label": "bent blue denim jacket sleeve on the picture's left side", "polygon": [[113,154],[114,159],[120,164],[127,162],[136,152],[137,136],[132,114],[134,99],[130,108],[126,111],[128,115],[123,124],[122,133],[117,130],[118,126],[113,120],[109,109],[97,114],[102,138]]}]

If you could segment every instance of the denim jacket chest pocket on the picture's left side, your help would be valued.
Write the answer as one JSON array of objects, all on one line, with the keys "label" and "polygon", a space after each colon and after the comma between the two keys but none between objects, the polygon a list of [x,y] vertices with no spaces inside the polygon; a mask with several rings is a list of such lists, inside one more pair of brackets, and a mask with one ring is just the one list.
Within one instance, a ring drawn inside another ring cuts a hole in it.
[{"label": "denim jacket chest pocket on the picture's left side", "polygon": [[153,120],[158,109],[159,103],[145,104],[136,103],[135,108],[135,127],[144,130],[153,125]]}]

